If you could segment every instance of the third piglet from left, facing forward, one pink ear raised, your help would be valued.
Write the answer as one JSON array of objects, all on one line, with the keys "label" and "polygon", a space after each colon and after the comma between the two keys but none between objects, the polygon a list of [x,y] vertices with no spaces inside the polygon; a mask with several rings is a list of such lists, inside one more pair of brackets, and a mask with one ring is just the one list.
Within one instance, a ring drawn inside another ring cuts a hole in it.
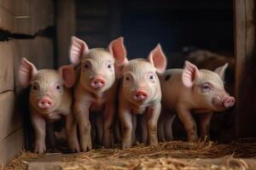
[{"label": "third piglet from left, facing forward, one pink ear raised", "polygon": [[160,45],[154,48],[148,59],[120,59],[123,80],[119,89],[119,120],[122,127],[122,149],[135,141],[136,116],[143,114],[142,139],[158,144],[157,122],[161,110],[161,88],[156,72],[166,69],[166,56]]}]

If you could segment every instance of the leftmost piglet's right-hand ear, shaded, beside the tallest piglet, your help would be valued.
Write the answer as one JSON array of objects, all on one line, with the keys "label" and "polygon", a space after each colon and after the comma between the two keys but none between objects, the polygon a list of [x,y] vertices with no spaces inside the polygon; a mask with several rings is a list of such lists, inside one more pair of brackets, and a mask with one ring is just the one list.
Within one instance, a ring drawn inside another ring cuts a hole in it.
[{"label": "leftmost piglet's right-hand ear, shaded, beside the tallest piglet", "polygon": [[76,81],[74,66],[73,65],[63,65],[59,68],[59,73],[61,74],[61,77],[63,78],[64,85],[67,88],[73,87],[73,85]]}]

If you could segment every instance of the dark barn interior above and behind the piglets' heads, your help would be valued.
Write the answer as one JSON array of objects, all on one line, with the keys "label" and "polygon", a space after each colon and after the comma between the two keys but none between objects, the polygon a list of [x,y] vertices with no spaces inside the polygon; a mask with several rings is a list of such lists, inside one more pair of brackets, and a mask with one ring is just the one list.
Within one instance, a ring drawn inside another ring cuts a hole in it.
[{"label": "dark barn interior above and behind the piglets' heads", "polygon": [[168,67],[183,66],[184,47],[234,55],[232,0],[77,0],[76,34],[90,48],[125,37],[128,57],[146,57],[158,42]]}]

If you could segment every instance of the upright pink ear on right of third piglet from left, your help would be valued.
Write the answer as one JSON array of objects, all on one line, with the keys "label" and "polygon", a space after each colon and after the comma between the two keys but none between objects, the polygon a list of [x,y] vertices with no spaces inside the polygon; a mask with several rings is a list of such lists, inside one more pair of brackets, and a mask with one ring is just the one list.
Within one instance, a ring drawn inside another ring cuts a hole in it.
[{"label": "upright pink ear on right of third piglet from left", "polygon": [[148,60],[154,64],[156,71],[162,73],[166,70],[166,55],[160,46],[160,43],[148,54]]}]

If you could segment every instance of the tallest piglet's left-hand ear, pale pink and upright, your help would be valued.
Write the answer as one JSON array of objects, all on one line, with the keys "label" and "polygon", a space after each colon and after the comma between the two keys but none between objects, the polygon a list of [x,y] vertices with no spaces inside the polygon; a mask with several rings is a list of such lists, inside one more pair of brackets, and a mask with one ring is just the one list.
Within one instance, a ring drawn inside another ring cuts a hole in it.
[{"label": "tallest piglet's left-hand ear, pale pink and upright", "polygon": [[83,54],[88,52],[89,48],[87,44],[80,40],[78,37],[71,38],[71,45],[69,49],[69,59],[74,65],[79,65]]}]

